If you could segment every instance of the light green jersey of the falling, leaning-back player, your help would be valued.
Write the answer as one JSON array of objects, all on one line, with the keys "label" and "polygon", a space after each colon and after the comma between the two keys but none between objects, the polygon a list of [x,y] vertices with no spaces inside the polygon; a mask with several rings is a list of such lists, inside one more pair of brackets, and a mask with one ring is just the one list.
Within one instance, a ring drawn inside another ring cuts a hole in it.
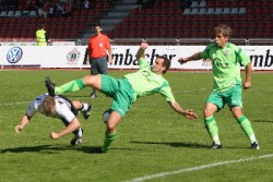
[{"label": "light green jersey of the falling, leaning-back player", "polygon": [[168,82],[162,75],[154,73],[145,59],[140,59],[139,64],[138,72],[124,75],[134,90],[134,100],[140,96],[159,93],[167,101],[175,101]]}]

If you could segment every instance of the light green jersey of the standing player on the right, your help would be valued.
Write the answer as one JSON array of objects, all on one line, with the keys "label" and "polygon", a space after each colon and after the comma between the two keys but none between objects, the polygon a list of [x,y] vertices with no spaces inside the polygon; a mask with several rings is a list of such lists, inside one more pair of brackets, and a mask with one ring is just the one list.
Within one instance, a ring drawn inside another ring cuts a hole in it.
[{"label": "light green jersey of the standing player on the right", "polygon": [[224,48],[215,43],[209,45],[201,52],[201,58],[212,61],[214,92],[224,92],[236,84],[241,84],[240,64],[246,66],[250,61],[249,56],[241,48],[230,43],[227,43]]}]

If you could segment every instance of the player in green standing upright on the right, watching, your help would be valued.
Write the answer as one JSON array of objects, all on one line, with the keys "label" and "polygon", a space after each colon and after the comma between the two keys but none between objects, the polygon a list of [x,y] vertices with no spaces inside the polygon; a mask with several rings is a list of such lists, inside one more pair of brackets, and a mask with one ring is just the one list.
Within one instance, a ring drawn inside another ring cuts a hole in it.
[{"label": "player in green standing upright on the right, watching", "polygon": [[200,59],[210,59],[212,61],[214,85],[203,109],[204,123],[213,139],[212,148],[222,148],[214,114],[227,104],[242,131],[249,137],[251,148],[259,149],[260,146],[254,136],[251,123],[242,113],[240,64],[246,69],[244,88],[247,89],[251,86],[250,58],[241,48],[229,43],[229,37],[232,36],[230,27],[218,25],[214,28],[214,33],[215,43],[209,45],[203,51],[188,58],[180,58],[178,61],[181,64]]}]

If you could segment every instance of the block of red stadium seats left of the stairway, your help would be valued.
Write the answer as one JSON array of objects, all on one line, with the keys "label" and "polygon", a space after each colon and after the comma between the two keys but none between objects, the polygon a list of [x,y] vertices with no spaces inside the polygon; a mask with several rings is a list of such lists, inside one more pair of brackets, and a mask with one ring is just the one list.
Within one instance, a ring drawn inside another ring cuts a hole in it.
[{"label": "block of red stadium seats left of the stairway", "polygon": [[60,17],[43,17],[35,10],[25,10],[25,0],[19,0],[19,5],[12,10],[1,9],[0,38],[31,39],[39,24],[45,24],[51,39],[76,39],[86,31],[88,23],[94,23],[103,12],[110,9],[107,1],[91,3],[88,9],[73,8],[71,14]]}]

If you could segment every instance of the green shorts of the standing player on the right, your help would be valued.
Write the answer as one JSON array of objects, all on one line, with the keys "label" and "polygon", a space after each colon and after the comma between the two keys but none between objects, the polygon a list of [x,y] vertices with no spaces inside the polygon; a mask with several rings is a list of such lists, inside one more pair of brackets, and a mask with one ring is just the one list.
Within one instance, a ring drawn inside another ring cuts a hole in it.
[{"label": "green shorts of the standing player on the right", "polygon": [[241,85],[237,84],[223,93],[213,92],[207,97],[206,104],[207,102],[216,105],[218,107],[218,111],[224,108],[225,104],[227,104],[229,109],[234,106],[242,108]]}]

